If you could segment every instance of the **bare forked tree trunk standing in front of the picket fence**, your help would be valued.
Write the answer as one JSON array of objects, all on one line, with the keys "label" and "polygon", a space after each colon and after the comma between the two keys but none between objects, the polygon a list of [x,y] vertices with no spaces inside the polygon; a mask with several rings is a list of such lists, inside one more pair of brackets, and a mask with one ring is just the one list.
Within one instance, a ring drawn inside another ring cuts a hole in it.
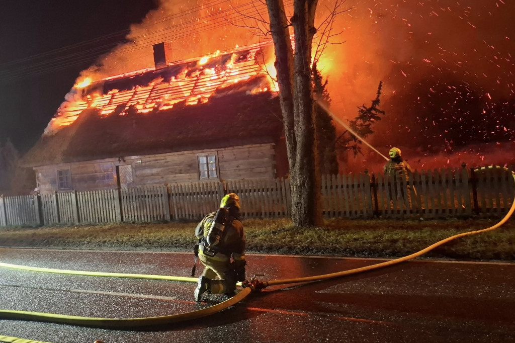
[{"label": "bare forked tree trunk standing in front of the picket fence", "polygon": [[[316,5],[317,0],[294,1],[294,17],[291,22],[295,32],[295,56],[292,61],[289,58],[291,45],[282,0],[267,0],[270,29],[276,46],[276,69],[290,163],[291,219],[296,226],[322,224],[311,82],[311,45],[316,32]],[[284,82],[287,75],[288,82]],[[293,99],[293,111],[290,107],[283,106],[283,96],[286,95]]]}]

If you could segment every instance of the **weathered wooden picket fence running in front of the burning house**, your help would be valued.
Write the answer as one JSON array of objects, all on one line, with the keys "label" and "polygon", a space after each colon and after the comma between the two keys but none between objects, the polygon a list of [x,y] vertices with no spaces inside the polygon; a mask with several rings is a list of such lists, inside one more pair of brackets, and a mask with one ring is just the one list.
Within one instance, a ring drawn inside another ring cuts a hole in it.
[{"label": "weathered wooden picket fence running in front of the burning house", "polygon": [[[0,226],[198,220],[227,193],[241,198],[244,219],[291,216],[289,179],[256,179],[0,196]],[[514,193],[503,168],[422,170],[408,180],[325,175],[321,185],[325,218],[501,216]]]}]

